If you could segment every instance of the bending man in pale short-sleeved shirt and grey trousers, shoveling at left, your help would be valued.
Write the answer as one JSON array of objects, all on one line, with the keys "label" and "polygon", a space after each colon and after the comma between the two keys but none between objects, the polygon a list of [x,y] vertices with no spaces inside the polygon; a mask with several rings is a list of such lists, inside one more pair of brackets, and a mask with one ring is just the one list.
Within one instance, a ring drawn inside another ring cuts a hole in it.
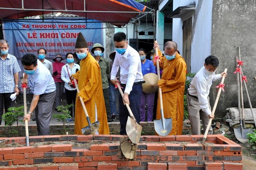
[{"label": "bending man in pale short-sleeved shirt and grey trousers, shoveling at left", "polygon": [[[24,72],[28,75],[30,89],[34,93],[30,109],[23,121],[28,120],[29,122],[35,110],[38,135],[49,135],[52,107],[56,93],[53,77],[34,54],[25,54],[21,62]],[[27,76],[24,76],[22,82],[27,82],[25,77]]]}]

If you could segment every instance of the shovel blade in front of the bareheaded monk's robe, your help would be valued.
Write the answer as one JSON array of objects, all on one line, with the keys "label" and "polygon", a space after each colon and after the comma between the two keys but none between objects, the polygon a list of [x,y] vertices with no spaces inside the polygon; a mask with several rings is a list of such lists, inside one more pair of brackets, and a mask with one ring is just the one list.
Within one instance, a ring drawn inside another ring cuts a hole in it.
[{"label": "shovel blade in front of the bareheaded monk's robe", "polygon": [[[165,126],[163,125],[162,119],[164,119]],[[162,118],[162,119],[154,120],[155,130],[157,134],[161,136],[167,136],[172,131],[173,120],[172,118],[167,118],[167,119]]]}]

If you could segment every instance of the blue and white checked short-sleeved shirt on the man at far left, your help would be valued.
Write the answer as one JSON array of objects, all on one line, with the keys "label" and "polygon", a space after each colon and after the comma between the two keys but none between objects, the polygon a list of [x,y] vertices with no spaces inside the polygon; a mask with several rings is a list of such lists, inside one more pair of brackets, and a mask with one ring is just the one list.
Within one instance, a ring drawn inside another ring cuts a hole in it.
[{"label": "blue and white checked short-sleeved shirt on the man at far left", "polygon": [[14,74],[20,71],[20,66],[14,55],[7,53],[5,60],[0,59],[0,93],[14,92]]}]

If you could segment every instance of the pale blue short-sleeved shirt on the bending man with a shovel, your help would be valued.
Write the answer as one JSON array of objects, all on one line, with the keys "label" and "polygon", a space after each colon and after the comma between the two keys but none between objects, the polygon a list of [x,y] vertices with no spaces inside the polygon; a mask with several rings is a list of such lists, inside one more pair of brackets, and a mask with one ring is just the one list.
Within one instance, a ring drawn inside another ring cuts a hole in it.
[{"label": "pale blue short-sleeved shirt on the bending man with a shovel", "polygon": [[56,86],[50,71],[37,60],[37,70],[34,74],[28,75],[30,89],[35,95],[51,93]]}]

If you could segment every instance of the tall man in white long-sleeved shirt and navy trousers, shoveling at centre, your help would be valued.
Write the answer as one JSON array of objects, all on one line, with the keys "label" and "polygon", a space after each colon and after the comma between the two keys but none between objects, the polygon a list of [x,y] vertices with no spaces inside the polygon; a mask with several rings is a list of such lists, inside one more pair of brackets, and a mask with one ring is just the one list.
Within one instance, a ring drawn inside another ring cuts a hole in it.
[{"label": "tall man in white long-sleeved shirt and navy trousers, shoveling at centre", "polygon": [[119,97],[119,119],[120,119],[120,134],[126,133],[126,123],[129,112],[125,103],[130,105],[132,113],[137,121],[140,123],[140,99],[142,95],[142,83],[144,83],[143,75],[141,72],[141,61],[139,53],[128,45],[125,33],[118,32],[114,35],[114,44],[116,55],[111,70],[110,81],[116,85],[119,83],[115,76],[120,65],[120,82],[123,87],[124,96]]}]

